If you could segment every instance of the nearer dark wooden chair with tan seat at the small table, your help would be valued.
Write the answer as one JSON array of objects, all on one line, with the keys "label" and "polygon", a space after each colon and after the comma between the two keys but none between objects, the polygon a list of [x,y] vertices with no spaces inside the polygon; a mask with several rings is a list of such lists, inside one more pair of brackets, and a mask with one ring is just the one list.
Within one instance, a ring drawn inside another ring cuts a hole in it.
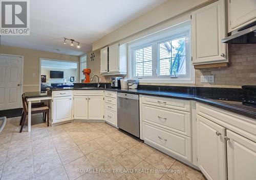
[{"label": "nearer dark wooden chair with tan seat at the small table", "polygon": [[[27,100],[25,99],[25,94],[22,95],[22,103],[23,103],[24,115],[22,117],[19,133],[22,132],[24,123],[26,121],[26,117],[28,115],[28,103],[27,103]],[[38,113],[45,113],[47,115],[47,126],[49,126],[49,107],[47,106],[42,106],[42,107],[35,106],[33,108],[31,107],[31,114],[38,114]],[[46,120],[46,115],[44,117],[44,120]]]}]

